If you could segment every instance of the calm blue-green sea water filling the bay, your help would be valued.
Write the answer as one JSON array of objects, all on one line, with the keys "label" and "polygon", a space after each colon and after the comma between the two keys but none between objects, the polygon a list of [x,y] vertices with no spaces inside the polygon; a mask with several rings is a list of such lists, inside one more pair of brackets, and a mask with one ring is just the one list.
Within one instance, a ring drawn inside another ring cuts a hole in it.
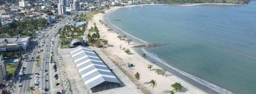
[{"label": "calm blue-green sea water filling the bay", "polygon": [[256,94],[256,1],[249,5],[146,5],[120,8],[109,26],[142,51],[220,94]]}]

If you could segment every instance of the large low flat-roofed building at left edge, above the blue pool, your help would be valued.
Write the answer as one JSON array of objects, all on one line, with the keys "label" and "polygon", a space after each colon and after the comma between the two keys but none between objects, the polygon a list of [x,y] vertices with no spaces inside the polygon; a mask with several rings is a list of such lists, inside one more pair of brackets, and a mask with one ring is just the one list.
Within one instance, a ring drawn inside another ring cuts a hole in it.
[{"label": "large low flat-roofed building at left edge, above the blue pool", "polygon": [[29,42],[29,37],[1,38],[0,52],[25,52],[25,49],[29,46]]}]

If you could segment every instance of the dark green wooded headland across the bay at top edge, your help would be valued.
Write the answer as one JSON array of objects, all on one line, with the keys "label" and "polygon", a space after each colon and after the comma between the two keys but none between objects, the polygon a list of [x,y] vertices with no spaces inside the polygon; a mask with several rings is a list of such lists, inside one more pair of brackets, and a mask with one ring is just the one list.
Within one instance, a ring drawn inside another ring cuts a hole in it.
[{"label": "dark green wooded headland across the bay at top edge", "polygon": [[157,0],[164,4],[182,3],[228,3],[228,4],[248,4],[250,0]]}]

